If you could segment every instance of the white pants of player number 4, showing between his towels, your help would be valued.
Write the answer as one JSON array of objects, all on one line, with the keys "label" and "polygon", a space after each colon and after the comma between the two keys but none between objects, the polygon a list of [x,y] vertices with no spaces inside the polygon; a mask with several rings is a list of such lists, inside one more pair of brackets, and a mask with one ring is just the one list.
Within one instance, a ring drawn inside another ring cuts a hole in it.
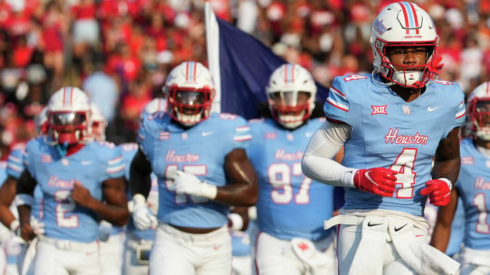
[{"label": "white pants of player number 4, showing between his towels", "polygon": [[[354,259],[356,248],[361,240],[362,223],[359,225],[339,225],[338,230],[338,264],[339,274],[347,275]],[[427,232],[413,228],[416,240],[427,243]],[[388,233],[386,233],[388,235]],[[368,256],[369,258],[369,256]],[[393,245],[393,242],[386,241],[384,244],[383,275],[408,275],[417,274],[400,257]]]}]

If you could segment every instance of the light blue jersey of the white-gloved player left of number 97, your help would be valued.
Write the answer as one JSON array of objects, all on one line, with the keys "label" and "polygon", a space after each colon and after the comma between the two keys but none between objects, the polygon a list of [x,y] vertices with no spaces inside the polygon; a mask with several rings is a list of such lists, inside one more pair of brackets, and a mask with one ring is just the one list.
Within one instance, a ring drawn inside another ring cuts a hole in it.
[{"label": "light blue jersey of the white-gloved player left of number 97", "polygon": [[177,195],[166,173],[181,170],[224,186],[225,156],[246,148],[249,130],[244,119],[231,114],[212,114],[187,130],[162,112],[143,119],[138,142],[158,178],[160,222],[191,228],[218,228],[227,223],[227,206],[203,197]]}]

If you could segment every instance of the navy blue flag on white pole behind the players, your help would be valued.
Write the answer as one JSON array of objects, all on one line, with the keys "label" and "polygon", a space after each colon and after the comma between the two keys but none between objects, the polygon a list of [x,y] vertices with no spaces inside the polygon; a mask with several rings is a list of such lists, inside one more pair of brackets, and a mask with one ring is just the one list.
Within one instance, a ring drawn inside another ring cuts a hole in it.
[{"label": "navy blue flag on white pole behind the players", "polygon": [[[211,13],[211,16],[214,14]],[[267,101],[265,86],[269,76],[287,62],[254,37],[225,20],[215,18],[217,24],[214,22],[214,25],[210,24],[214,18],[206,18],[206,33],[209,67],[215,81],[220,84],[220,98],[217,99],[220,100],[220,111],[246,119],[257,118],[257,104]],[[216,26],[218,31],[214,32],[219,33],[216,35],[219,37],[218,43],[216,37],[214,40],[209,37],[209,33],[212,33],[210,28],[216,29]],[[316,86],[317,99],[325,101],[328,89],[318,83]]]}]

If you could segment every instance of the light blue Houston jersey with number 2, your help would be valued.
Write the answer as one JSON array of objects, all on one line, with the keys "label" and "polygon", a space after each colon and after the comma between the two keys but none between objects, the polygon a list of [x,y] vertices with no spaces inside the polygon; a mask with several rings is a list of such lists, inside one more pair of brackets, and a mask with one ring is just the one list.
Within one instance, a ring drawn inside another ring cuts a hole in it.
[{"label": "light blue Houston jersey with number 2", "polygon": [[75,181],[102,201],[102,182],[124,176],[125,166],[118,147],[109,142],[91,142],[75,154],[60,158],[56,148],[44,137],[29,141],[24,165],[37,181],[43,194],[43,215],[48,237],[92,242],[98,237],[96,214],[71,199]]}]

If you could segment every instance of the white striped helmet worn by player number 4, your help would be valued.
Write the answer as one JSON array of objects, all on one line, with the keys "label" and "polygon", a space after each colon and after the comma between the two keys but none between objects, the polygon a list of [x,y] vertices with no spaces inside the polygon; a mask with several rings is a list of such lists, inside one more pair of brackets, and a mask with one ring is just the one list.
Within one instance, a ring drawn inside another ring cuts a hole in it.
[{"label": "white striped helmet worn by player number 4", "polygon": [[[391,81],[386,85],[424,87],[433,75],[437,75],[439,60],[434,62],[439,36],[429,14],[411,2],[397,2],[386,6],[376,17],[371,28],[371,47],[374,53],[374,68]],[[389,60],[386,47],[427,47],[426,63],[423,66],[395,64]],[[403,68],[395,70],[393,65]]]}]

